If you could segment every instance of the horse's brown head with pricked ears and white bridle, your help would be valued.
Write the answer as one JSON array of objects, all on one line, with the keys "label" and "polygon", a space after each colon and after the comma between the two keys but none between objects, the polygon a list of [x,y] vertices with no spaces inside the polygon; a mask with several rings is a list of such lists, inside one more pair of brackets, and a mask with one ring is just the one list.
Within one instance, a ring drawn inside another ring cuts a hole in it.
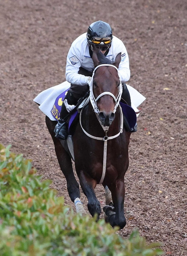
[{"label": "horse's brown head with pricked ears and white bridle", "polygon": [[[115,112],[121,98],[122,87],[118,76],[118,66],[121,61],[119,53],[112,63],[101,51],[93,51],[95,70],[90,96],[93,93],[92,105],[98,114],[101,125],[109,127],[115,118]],[[91,97],[90,97],[91,98]]]}]

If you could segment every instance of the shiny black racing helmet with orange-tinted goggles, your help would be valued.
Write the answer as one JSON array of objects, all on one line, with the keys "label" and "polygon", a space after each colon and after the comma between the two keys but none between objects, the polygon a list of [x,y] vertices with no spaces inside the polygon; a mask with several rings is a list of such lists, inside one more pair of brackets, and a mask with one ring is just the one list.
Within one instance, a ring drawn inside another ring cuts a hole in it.
[{"label": "shiny black racing helmet with orange-tinted goggles", "polygon": [[112,43],[112,28],[106,22],[98,20],[91,23],[87,30],[87,42],[91,46],[100,47],[101,50],[108,50]]}]

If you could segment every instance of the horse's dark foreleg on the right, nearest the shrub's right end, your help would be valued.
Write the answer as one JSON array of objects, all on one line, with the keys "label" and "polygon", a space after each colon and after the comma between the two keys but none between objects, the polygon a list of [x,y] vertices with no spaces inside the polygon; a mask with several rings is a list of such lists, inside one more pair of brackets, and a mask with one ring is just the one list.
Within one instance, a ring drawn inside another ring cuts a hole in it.
[{"label": "horse's dark foreleg on the right, nearest the shrub's right end", "polygon": [[126,219],[124,216],[124,180],[117,179],[116,182],[109,186],[109,189],[112,193],[115,214],[108,216],[108,221],[110,222],[111,226],[119,226],[120,229],[122,229],[126,225]]}]

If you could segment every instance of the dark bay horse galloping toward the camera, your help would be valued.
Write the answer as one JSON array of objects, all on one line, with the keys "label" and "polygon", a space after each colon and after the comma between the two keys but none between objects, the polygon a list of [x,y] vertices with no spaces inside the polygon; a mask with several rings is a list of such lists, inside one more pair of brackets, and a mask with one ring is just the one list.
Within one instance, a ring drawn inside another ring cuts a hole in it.
[{"label": "dark bay horse galloping toward the camera", "polygon": [[[123,129],[119,100],[122,86],[118,76],[121,54],[110,63],[99,51],[93,52],[95,70],[90,85],[90,101],[82,109],[80,121],[72,135],[75,170],[87,207],[91,214],[101,214],[100,202],[94,189],[97,184],[105,187],[106,221],[120,229],[126,225],[124,216],[124,175],[128,169],[128,145],[130,132]],[[67,181],[67,190],[76,209],[81,207],[79,184],[73,173],[71,156],[62,146],[66,141],[55,138],[56,121],[46,116],[46,125],[54,142],[55,152]],[[112,197],[111,197],[112,194]]]}]

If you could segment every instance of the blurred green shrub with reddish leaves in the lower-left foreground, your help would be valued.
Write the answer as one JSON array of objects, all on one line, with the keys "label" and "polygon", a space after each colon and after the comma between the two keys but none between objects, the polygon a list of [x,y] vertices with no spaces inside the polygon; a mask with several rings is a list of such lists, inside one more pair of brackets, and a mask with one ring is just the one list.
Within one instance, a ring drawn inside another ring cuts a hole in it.
[{"label": "blurred green shrub with reddish leaves in the lower-left foreground", "polygon": [[36,175],[31,160],[0,145],[1,256],[154,256],[158,244],[147,245],[134,231],[128,239],[104,220],[74,214],[51,181]]}]

